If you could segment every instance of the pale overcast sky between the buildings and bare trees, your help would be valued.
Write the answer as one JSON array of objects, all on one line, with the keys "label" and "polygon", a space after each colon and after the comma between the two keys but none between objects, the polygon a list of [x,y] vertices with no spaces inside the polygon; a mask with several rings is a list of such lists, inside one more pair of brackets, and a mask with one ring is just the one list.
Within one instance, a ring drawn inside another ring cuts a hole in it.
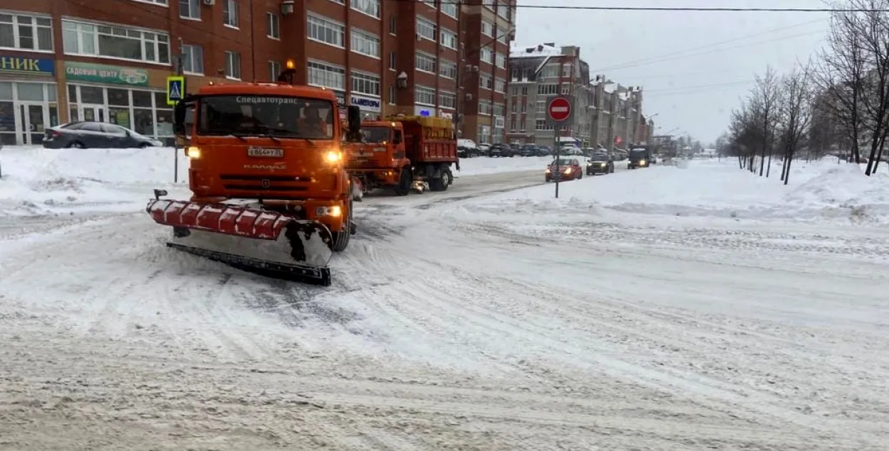
[{"label": "pale overcast sky between the buildings and bare trees", "polygon": [[827,12],[637,12],[523,5],[824,8],[822,0],[518,0],[516,43],[579,45],[591,76],[642,86],[656,133],[705,144],[728,126],[754,77],[793,69],[824,44]]}]

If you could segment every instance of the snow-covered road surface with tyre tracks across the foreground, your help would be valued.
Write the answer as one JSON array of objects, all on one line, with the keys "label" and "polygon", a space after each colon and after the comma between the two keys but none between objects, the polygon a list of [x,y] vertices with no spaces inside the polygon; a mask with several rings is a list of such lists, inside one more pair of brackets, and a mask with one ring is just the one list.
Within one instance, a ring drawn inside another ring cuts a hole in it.
[{"label": "snow-covered road surface with tyre tracks across the foreground", "polygon": [[368,198],[327,289],[7,222],[0,449],[887,449],[886,229],[576,198],[665,170]]}]

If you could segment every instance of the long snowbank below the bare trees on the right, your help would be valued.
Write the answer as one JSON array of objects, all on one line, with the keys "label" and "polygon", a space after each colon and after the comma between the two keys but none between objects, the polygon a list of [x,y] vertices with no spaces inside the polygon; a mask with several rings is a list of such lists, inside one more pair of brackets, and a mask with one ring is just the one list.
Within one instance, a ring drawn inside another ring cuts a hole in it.
[{"label": "long snowbank below the bare trees on the right", "polygon": [[605,210],[677,217],[738,219],[842,219],[889,222],[889,176],[865,177],[853,164],[836,160],[795,162],[790,183],[739,170],[736,161],[692,161],[687,169],[654,166],[587,177],[554,186],[535,186],[475,202],[465,214],[495,218],[518,213],[531,216],[557,212],[561,219],[589,220]]}]

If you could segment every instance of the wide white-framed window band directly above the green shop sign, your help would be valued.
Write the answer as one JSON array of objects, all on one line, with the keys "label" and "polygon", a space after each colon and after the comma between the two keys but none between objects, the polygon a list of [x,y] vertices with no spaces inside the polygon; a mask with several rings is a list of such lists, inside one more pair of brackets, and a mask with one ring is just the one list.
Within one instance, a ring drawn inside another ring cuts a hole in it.
[{"label": "wide white-framed window band directly above the green shop sign", "polygon": [[68,55],[129,59],[170,64],[170,36],[138,28],[62,20]]}]

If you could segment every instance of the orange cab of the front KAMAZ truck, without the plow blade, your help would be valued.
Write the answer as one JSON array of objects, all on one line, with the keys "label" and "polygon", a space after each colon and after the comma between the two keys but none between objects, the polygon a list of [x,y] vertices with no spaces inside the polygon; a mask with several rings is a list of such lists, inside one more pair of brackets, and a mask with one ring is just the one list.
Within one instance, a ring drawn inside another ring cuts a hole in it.
[{"label": "orange cab of the front KAMAZ truck, without the plow blade", "polygon": [[355,233],[342,148],[348,133],[333,91],[293,84],[294,70],[288,61],[278,83],[204,86],[177,105],[191,202],[259,202],[327,226],[333,250],[342,250]]}]

